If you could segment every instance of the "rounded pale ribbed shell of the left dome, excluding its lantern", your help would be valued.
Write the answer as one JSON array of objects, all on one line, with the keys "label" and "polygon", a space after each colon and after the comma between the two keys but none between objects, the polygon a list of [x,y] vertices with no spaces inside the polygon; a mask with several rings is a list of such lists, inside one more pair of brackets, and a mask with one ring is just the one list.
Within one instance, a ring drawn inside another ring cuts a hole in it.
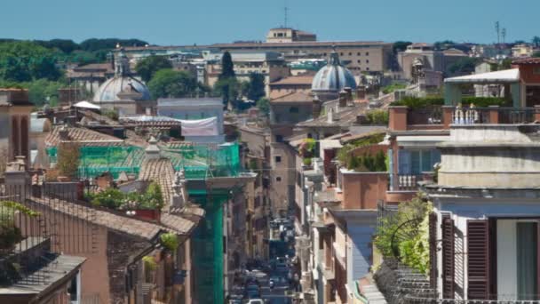
[{"label": "rounded pale ribbed shell of the left dome, excluding its lantern", "polygon": [[131,76],[115,76],[108,79],[99,86],[93,100],[96,103],[122,100],[121,97],[118,97],[120,92],[136,92],[139,94],[135,95],[137,96],[135,100],[150,100],[147,85]]}]

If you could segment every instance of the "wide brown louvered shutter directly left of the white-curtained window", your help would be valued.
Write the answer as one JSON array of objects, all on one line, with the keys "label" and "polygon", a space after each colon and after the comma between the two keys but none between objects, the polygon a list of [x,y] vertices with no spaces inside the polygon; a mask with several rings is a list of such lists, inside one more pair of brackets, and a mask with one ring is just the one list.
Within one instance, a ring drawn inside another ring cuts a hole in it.
[{"label": "wide brown louvered shutter directly left of the white-curtained window", "polygon": [[489,299],[488,220],[467,221],[467,294],[469,300]]}]

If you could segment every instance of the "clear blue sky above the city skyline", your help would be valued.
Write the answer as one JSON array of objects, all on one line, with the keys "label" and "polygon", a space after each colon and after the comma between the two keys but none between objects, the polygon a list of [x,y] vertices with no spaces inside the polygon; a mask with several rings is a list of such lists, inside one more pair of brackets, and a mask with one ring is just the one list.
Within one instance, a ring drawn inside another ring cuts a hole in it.
[{"label": "clear blue sky above the city skyline", "polygon": [[320,41],[506,42],[540,36],[540,0],[4,0],[0,37],[139,38],[150,44],[264,40],[284,24]]}]

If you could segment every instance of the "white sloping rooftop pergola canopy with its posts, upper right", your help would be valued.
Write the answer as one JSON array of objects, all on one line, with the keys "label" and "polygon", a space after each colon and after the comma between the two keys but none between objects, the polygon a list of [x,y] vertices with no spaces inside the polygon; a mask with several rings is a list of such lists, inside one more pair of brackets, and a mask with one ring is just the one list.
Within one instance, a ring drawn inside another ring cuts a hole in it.
[{"label": "white sloping rooftop pergola canopy with its posts, upper right", "polygon": [[520,107],[520,69],[511,68],[496,72],[457,76],[444,80],[444,104],[456,106],[461,102],[462,84],[504,84],[510,87],[512,106]]}]

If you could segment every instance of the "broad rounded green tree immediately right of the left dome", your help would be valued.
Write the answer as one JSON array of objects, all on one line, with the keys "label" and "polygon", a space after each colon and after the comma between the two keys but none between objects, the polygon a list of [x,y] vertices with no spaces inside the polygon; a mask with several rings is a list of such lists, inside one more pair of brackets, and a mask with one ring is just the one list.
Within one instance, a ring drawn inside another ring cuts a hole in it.
[{"label": "broad rounded green tree immediately right of the left dome", "polygon": [[170,68],[161,69],[148,82],[148,90],[152,98],[186,97],[193,95],[197,83],[195,77],[186,71],[175,71]]}]

